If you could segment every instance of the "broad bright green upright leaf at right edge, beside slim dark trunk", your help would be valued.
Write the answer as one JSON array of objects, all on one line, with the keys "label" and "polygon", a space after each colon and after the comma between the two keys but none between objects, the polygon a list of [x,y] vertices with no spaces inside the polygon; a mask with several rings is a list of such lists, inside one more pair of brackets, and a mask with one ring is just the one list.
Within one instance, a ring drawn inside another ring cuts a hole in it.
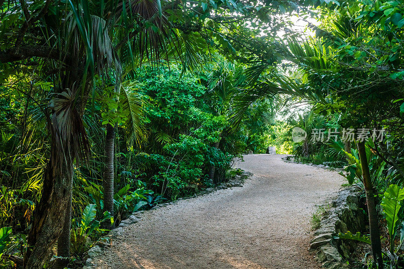
[{"label": "broad bright green upright leaf at right edge, beside slim dark trunk", "polygon": [[384,192],[381,206],[386,214],[388,234],[390,237],[390,251],[394,251],[394,237],[397,229],[398,212],[401,208],[400,201],[404,199],[404,189],[391,184]]}]

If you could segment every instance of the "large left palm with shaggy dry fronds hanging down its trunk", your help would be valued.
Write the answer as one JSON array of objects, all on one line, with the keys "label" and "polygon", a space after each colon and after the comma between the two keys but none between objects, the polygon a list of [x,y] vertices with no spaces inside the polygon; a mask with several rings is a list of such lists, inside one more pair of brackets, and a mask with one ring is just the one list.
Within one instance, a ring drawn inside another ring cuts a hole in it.
[{"label": "large left palm with shaggy dry fronds hanging down its trunk", "polygon": [[[58,96],[49,103],[52,117],[48,116],[48,128],[52,134],[51,157],[44,174],[44,184],[39,205],[36,208],[32,228],[28,235],[32,251],[27,250],[24,265],[27,268],[42,267],[45,255],[62,234],[58,252],[70,257],[70,219],[73,164],[86,159],[89,152],[82,115],[91,89],[91,77],[105,73],[119,61],[112,53],[112,43],[103,30],[107,22],[95,15],[89,15],[85,7],[71,6],[60,12],[59,24],[50,27],[57,32],[47,39],[63,55],[60,66],[53,77],[55,93]],[[72,10],[73,12],[70,12]],[[91,31],[84,31],[87,25]],[[49,33],[50,34],[50,33]],[[65,66],[65,67],[63,67]],[[66,75],[65,75],[66,74]],[[55,225],[61,223],[64,225]]]}]

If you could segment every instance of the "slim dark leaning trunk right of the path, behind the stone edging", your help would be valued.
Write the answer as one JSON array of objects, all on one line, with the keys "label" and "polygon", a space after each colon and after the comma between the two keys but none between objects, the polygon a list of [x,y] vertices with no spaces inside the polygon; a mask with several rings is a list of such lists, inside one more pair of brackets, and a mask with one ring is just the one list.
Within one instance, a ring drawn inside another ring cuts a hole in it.
[{"label": "slim dark leaning trunk right of the path, behind the stone edging", "polygon": [[373,190],[372,178],[369,172],[368,160],[366,158],[365,143],[358,143],[359,157],[361,159],[363,183],[366,190],[366,203],[369,214],[370,240],[372,243],[373,259],[378,264],[379,269],[383,269],[383,257],[380,243],[380,231],[378,225],[377,212],[375,207],[375,193]]}]

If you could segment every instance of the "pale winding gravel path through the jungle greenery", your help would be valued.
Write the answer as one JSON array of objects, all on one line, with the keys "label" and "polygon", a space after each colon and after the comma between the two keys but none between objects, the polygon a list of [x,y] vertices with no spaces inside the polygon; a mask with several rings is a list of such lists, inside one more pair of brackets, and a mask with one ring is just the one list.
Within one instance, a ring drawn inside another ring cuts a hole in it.
[{"label": "pale winding gravel path through the jungle greenery", "polygon": [[243,187],[147,211],[93,259],[97,268],[319,268],[308,247],[315,205],[336,194],[336,172],[244,156]]}]

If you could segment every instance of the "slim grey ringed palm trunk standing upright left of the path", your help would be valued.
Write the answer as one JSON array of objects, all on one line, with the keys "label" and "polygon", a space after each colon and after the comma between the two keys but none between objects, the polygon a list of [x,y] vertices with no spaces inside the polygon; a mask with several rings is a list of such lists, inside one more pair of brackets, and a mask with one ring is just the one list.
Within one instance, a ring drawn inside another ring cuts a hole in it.
[{"label": "slim grey ringed palm trunk standing upright left of the path", "polygon": [[[104,211],[114,216],[114,147],[115,128],[107,124],[107,136],[105,139],[105,170],[104,170]],[[103,224],[104,228],[112,228],[110,222]]]}]

